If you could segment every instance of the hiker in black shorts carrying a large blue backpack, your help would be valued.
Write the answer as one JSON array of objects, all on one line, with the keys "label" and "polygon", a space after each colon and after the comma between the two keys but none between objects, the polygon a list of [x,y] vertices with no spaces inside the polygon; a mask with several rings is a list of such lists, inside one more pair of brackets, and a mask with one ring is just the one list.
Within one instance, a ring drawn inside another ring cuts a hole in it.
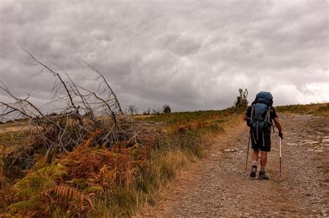
[{"label": "hiker in black shorts carrying a large blue backpack", "polygon": [[[273,104],[273,97],[271,93],[261,91],[256,95],[255,101],[248,107],[244,120],[246,120],[250,130],[250,137],[253,148],[253,163],[251,165],[250,176],[256,177],[258,154],[260,152],[260,173],[258,179],[269,179],[265,174],[265,166],[267,163],[267,152],[271,151],[271,127],[273,127],[273,120],[279,131],[279,136],[283,139],[282,127],[278,119],[278,115]],[[274,131],[274,128],[273,128]]]}]

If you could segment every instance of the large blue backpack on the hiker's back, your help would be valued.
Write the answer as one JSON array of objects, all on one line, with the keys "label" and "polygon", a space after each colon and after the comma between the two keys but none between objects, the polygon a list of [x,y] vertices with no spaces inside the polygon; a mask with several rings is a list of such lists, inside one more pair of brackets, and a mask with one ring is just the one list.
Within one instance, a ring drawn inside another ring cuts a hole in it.
[{"label": "large blue backpack on the hiker's back", "polygon": [[[251,127],[254,140],[258,140],[259,133],[262,133],[264,145],[264,131],[271,131],[271,106],[273,96],[267,91],[261,91],[256,95],[255,101],[251,104],[251,116],[248,126]],[[256,137],[255,137],[256,134]]]}]

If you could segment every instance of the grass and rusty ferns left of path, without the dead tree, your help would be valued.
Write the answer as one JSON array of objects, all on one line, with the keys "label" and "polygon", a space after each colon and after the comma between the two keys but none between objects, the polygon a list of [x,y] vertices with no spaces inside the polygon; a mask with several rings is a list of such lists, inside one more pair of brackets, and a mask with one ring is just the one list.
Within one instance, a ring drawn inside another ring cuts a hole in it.
[{"label": "grass and rusty ferns left of path, without the dead tree", "polygon": [[[5,161],[2,170],[7,172],[2,174],[0,211],[8,215],[55,217],[133,216],[142,212],[146,204],[154,206],[161,188],[185,166],[204,156],[208,138],[238,125],[241,114],[225,109],[136,119],[162,122],[160,136],[149,138],[143,145],[122,147],[121,143],[108,149],[96,143],[95,131],[68,154],[53,156],[51,160],[35,156],[35,165],[21,171],[24,177],[15,182],[4,176],[10,175]],[[5,133],[0,137],[0,145],[19,143],[23,136],[21,132]]]}]

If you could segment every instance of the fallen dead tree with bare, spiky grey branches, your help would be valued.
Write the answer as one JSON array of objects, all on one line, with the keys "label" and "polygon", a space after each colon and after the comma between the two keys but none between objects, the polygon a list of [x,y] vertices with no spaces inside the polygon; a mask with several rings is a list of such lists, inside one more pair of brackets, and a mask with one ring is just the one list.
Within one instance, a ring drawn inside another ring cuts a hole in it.
[{"label": "fallen dead tree with bare, spiky grey branches", "polygon": [[[31,53],[24,50],[41,67],[37,75],[48,74],[53,80],[51,100],[48,104],[58,105],[56,111],[47,114],[30,100],[32,91],[25,98],[15,96],[4,82],[0,82],[0,92],[8,96],[8,102],[0,101],[0,120],[23,118],[26,120],[28,143],[24,149],[12,154],[11,161],[24,162],[22,165],[33,165],[33,154],[38,149],[45,149],[46,156],[69,152],[81,145],[93,132],[99,132],[94,144],[111,147],[117,141],[127,143],[143,140],[155,134],[153,122],[141,122],[124,116],[119,100],[110,84],[90,64],[85,64],[94,72],[92,79],[96,87],[87,89],[76,84],[69,73],[57,66],[52,69],[37,60]],[[24,124],[25,125],[25,124]]]}]

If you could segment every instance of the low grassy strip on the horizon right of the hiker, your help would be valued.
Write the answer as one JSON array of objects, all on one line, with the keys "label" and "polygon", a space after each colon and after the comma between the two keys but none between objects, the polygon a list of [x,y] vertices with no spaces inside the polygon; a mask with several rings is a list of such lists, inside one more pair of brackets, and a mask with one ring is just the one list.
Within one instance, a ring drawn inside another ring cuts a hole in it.
[{"label": "low grassy strip on the horizon right of the hiker", "polygon": [[313,104],[310,105],[284,105],[277,106],[278,112],[284,113],[303,113],[312,114],[314,116],[329,116],[329,103]]}]

